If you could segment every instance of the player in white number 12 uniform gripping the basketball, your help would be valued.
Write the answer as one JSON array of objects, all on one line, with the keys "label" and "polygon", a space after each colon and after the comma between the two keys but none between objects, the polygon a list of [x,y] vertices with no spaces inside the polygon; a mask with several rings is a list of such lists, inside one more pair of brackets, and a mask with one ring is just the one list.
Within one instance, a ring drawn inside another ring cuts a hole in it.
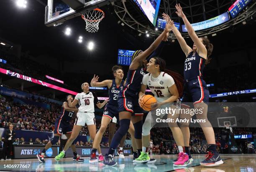
[{"label": "player in white number 12 uniform gripping the basketball", "polygon": [[[136,163],[145,163],[150,160],[148,156],[148,152],[146,147],[150,143],[150,130],[152,128],[152,116],[158,115],[161,119],[165,116],[165,112],[161,114],[156,114],[156,109],[166,109],[172,108],[177,109],[176,104],[174,102],[179,98],[179,95],[182,95],[182,84],[183,78],[179,76],[179,74],[174,73],[172,71],[167,70],[166,62],[162,58],[153,57],[150,59],[149,63],[147,64],[147,73],[143,76],[142,84],[141,84],[141,91],[139,93],[140,102],[143,101],[143,96],[145,96],[147,86],[154,94],[157,103],[154,105],[156,106],[154,109],[148,112],[148,115],[145,119],[142,128],[142,151],[140,157],[135,159]],[[173,76],[173,77],[172,77]],[[175,79],[175,81],[174,81]],[[178,91],[179,90],[179,91]],[[178,100],[179,101],[179,100]],[[168,114],[168,118],[176,119],[179,117],[179,114]],[[177,162],[174,163],[175,167],[185,167],[189,163],[189,157],[185,153],[184,148],[184,140],[182,131],[177,125],[177,123],[169,123],[169,127],[172,130],[172,134],[174,137],[175,142],[178,144],[179,148],[179,155]],[[158,150],[158,149],[157,149]]]}]

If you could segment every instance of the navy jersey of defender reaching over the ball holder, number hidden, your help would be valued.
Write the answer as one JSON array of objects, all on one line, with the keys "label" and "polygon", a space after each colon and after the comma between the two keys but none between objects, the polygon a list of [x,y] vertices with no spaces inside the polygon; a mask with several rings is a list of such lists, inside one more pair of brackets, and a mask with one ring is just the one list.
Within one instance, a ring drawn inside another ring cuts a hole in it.
[{"label": "navy jersey of defender reaching over the ball holder, number hidden", "polygon": [[127,73],[127,79],[125,83],[125,91],[128,90],[133,94],[138,94],[138,92],[141,90],[141,82],[144,75],[144,68],[129,70]]}]

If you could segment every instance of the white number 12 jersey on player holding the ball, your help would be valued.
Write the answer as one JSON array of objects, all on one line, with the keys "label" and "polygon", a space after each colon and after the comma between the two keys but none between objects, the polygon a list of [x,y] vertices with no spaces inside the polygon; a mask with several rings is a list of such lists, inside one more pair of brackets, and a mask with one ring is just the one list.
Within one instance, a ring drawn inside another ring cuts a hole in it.
[{"label": "white number 12 jersey on player holding the ball", "polygon": [[151,73],[147,73],[142,79],[142,84],[148,85],[151,92],[155,95],[156,100],[160,102],[172,96],[168,88],[174,83],[172,76],[164,72],[161,72],[157,78],[154,78]]}]

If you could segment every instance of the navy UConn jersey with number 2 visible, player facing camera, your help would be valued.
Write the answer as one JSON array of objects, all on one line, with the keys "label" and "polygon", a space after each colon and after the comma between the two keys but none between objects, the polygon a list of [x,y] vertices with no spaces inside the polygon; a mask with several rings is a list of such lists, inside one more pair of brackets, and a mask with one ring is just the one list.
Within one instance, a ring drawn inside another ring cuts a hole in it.
[{"label": "navy UConn jersey with number 2 visible, player facing camera", "polygon": [[117,87],[116,83],[115,83],[115,79],[112,80],[112,85],[108,90],[108,94],[109,94],[109,99],[108,99],[108,104],[109,105],[113,105],[113,106],[118,106],[118,94],[119,92],[123,91],[123,83],[124,81],[122,80],[120,83],[120,86]]}]

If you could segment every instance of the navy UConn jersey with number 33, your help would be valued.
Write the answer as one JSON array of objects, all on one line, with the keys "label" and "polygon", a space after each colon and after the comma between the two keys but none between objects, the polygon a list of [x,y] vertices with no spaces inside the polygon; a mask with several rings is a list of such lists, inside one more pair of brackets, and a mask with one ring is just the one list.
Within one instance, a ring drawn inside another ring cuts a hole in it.
[{"label": "navy UConn jersey with number 33", "polygon": [[189,81],[202,76],[205,61],[205,58],[200,57],[196,51],[189,53],[184,64],[184,80]]}]

